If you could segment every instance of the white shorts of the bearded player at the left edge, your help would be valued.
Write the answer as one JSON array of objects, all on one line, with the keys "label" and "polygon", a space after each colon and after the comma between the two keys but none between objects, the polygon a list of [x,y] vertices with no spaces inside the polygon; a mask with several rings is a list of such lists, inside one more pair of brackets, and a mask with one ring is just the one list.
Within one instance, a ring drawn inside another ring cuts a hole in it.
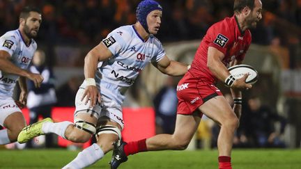
[{"label": "white shorts of the bearded player at the left edge", "polygon": [[20,108],[15,104],[15,100],[12,97],[7,99],[0,99],[0,125],[3,126],[4,120],[15,112],[22,112]]}]

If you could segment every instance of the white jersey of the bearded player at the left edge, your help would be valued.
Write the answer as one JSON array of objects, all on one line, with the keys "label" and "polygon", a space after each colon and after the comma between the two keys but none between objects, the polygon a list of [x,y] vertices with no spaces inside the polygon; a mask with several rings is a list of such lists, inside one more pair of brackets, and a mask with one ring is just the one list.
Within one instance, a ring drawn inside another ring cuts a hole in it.
[{"label": "white jersey of the bearded player at the left edge", "polygon": [[[8,31],[0,37],[0,50],[10,54],[10,61],[17,67],[27,69],[33,54],[37,49],[36,42],[31,39],[29,46],[26,46],[20,31]],[[0,99],[12,97],[18,75],[8,74],[0,70]]]}]

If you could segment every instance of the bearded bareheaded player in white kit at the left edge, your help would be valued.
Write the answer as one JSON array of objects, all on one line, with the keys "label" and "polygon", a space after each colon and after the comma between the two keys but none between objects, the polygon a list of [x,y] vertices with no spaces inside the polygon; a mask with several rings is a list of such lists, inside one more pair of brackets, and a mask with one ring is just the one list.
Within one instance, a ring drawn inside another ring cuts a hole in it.
[{"label": "bearded bareheaded player in white kit at the left edge", "polygon": [[19,29],[8,31],[0,37],[0,145],[13,143],[26,126],[22,112],[15,103],[13,89],[19,83],[21,93],[19,103],[26,104],[26,78],[40,86],[43,77],[26,70],[31,62],[37,44],[33,40],[38,35],[42,22],[40,11],[26,7],[20,14]]}]

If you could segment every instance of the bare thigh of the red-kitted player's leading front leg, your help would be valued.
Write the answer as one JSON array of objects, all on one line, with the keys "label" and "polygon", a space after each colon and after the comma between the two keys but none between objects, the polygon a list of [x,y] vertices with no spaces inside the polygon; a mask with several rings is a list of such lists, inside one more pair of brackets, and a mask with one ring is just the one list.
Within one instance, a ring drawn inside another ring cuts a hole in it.
[{"label": "bare thigh of the red-kitted player's leading front leg", "polygon": [[207,117],[219,122],[219,124],[222,124],[225,120],[237,119],[229,102],[221,95],[209,99],[199,106],[199,110]]}]

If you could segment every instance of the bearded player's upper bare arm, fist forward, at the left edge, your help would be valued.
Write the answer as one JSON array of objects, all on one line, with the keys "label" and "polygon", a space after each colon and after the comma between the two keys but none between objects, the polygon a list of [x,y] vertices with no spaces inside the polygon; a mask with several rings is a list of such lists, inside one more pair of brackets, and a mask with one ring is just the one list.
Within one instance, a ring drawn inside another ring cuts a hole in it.
[{"label": "bearded player's upper bare arm, fist forward, at the left edge", "polygon": [[40,74],[33,74],[27,70],[23,70],[20,67],[15,66],[9,61],[10,54],[7,51],[0,50],[0,70],[9,74],[17,74],[21,77],[27,77],[35,83],[36,87],[40,87],[40,83],[43,81],[43,77]]}]

